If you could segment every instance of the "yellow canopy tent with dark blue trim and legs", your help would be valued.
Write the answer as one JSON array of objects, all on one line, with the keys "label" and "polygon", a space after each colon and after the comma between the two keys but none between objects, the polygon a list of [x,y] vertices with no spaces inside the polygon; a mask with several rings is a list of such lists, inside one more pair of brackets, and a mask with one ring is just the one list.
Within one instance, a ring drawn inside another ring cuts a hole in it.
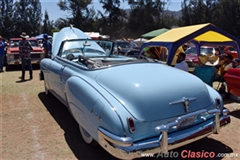
[{"label": "yellow canopy tent with dark blue trim and legs", "polygon": [[198,55],[200,54],[200,47],[209,44],[233,46],[238,52],[238,57],[240,57],[240,40],[211,23],[171,29],[144,43],[140,49],[140,54],[145,47],[164,46],[168,49],[167,64],[169,65],[174,58],[176,50],[189,41],[196,45]]}]

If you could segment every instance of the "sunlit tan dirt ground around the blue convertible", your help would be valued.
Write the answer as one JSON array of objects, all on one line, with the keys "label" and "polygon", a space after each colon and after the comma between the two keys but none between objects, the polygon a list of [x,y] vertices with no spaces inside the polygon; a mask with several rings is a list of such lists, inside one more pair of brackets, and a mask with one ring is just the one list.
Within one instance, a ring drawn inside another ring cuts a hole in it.
[{"label": "sunlit tan dirt ground around the blue convertible", "polygon": [[[39,67],[34,67],[33,80],[20,82],[20,67],[0,73],[0,159],[1,160],[113,160],[101,147],[86,145],[75,120],[55,97],[46,97]],[[28,71],[26,78],[28,78]],[[217,157],[220,160],[240,159],[240,104],[226,99],[231,111],[231,124],[218,135],[174,150],[234,153],[238,157]],[[176,159],[181,159],[179,155]],[[156,158],[142,158],[156,159]],[[170,159],[170,158],[165,158]],[[184,158],[183,158],[184,159]]]}]

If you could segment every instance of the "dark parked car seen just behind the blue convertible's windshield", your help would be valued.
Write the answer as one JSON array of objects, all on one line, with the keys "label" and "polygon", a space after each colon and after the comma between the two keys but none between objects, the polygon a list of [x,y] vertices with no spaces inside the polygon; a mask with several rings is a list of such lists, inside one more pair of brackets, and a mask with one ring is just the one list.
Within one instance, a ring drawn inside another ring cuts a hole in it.
[{"label": "dark parked car seen just behind the blue convertible's windshield", "polygon": [[121,55],[129,56],[129,57],[138,57],[139,48],[133,47],[127,41],[114,41],[114,51],[117,52],[117,48],[121,47]]}]

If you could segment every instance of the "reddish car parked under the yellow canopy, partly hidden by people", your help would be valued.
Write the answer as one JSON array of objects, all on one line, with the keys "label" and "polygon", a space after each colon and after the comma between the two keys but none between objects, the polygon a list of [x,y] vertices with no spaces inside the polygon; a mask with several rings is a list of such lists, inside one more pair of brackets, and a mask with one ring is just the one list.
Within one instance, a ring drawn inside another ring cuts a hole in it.
[{"label": "reddish car parked under the yellow canopy, partly hidden by people", "polygon": [[[186,51],[185,61],[188,63],[189,67],[196,67],[199,65],[199,58],[197,55],[197,50],[195,46],[189,47]],[[214,46],[201,46],[200,55],[217,55],[221,57],[223,55],[223,51],[219,47]]]}]

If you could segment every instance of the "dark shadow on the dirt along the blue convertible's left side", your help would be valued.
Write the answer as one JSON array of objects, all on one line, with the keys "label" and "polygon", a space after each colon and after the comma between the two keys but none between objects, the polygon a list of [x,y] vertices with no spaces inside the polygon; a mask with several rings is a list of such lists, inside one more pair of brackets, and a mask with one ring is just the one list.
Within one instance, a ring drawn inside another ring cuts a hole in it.
[{"label": "dark shadow on the dirt along the blue convertible's left side", "polygon": [[[91,147],[87,145],[80,134],[78,123],[74,120],[68,108],[54,96],[46,96],[44,92],[38,94],[51,116],[64,130],[64,137],[69,148],[77,159],[81,160],[114,160],[113,156],[107,153],[100,146]],[[54,146],[53,146],[54,147]]]}]

